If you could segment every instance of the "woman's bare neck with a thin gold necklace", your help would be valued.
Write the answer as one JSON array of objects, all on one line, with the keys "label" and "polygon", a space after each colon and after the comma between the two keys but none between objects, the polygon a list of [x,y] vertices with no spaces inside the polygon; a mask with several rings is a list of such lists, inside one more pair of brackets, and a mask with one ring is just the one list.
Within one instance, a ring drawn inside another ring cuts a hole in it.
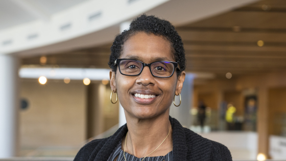
[{"label": "woman's bare neck with a thin gold necklace", "polygon": [[[169,110],[150,119],[138,119],[130,117],[127,112],[125,112],[125,114],[128,127],[126,152],[139,158],[145,157],[154,151],[165,138],[165,141],[160,147],[149,156],[163,156],[173,150]],[[170,133],[169,130],[171,130]],[[166,137],[167,135],[168,137]],[[125,141],[126,137],[123,138],[123,149],[125,147]]]}]

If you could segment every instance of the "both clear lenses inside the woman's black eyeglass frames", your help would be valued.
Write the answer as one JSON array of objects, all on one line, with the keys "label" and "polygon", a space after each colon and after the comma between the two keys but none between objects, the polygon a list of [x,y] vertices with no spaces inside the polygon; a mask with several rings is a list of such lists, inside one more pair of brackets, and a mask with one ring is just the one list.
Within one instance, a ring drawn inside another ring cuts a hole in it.
[{"label": "both clear lenses inside the woman's black eyeglass frames", "polygon": [[[142,67],[143,64],[136,60],[122,60],[119,64],[121,73],[129,76],[138,75]],[[174,64],[164,61],[152,63],[151,72],[157,77],[170,77],[174,72]]]}]

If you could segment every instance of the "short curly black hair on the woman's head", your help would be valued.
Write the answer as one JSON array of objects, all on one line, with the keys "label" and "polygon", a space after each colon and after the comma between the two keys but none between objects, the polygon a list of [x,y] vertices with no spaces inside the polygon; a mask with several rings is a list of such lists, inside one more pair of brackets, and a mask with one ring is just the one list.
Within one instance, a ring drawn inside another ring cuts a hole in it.
[{"label": "short curly black hair on the woman's head", "polygon": [[163,36],[170,41],[172,46],[172,52],[176,62],[180,65],[180,71],[177,70],[177,76],[185,70],[186,58],[183,42],[175,27],[167,20],[160,19],[156,16],[147,16],[142,14],[133,19],[130,24],[129,30],[124,30],[121,34],[116,35],[113,44],[110,48],[111,54],[109,57],[108,65],[112,71],[116,72],[117,65],[114,61],[120,58],[123,50],[124,42],[132,35],[138,32],[145,32],[147,34],[154,34],[157,36]]}]

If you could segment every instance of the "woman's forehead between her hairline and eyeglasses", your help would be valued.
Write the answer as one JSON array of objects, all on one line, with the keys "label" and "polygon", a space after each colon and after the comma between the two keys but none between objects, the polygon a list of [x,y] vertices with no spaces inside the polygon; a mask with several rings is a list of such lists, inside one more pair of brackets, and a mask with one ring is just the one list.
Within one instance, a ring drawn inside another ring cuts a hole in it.
[{"label": "woman's forehead between her hairline and eyeglasses", "polygon": [[124,43],[121,58],[135,58],[145,63],[175,61],[171,49],[171,43],[164,37],[139,32]]}]

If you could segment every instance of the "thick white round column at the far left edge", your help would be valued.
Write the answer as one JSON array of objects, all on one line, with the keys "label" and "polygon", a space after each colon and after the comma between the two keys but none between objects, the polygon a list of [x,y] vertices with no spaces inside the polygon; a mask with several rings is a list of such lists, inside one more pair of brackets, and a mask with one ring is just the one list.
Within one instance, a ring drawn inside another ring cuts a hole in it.
[{"label": "thick white round column at the far left edge", "polygon": [[17,155],[18,59],[0,53],[0,158]]}]

